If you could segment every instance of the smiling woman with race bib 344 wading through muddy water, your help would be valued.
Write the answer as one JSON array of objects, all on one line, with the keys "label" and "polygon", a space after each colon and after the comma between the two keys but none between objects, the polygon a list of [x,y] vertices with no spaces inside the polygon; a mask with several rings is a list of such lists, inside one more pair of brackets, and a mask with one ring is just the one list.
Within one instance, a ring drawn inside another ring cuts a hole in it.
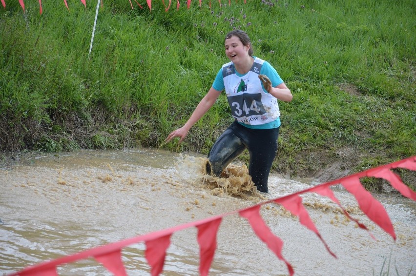
[{"label": "smiling woman with race bib 344 wading through muddy water", "polygon": [[280,128],[277,99],[291,101],[293,96],[270,63],[253,56],[250,38],[244,31],[235,30],[227,34],[225,51],[230,62],[219,70],[208,94],[185,125],[171,132],[165,141],[179,137],[181,143],[189,129],[225,89],[235,121],[212,146],[207,172],[219,177],[225,167],[247,148],[252,181],[258,191],[267,193]]}]

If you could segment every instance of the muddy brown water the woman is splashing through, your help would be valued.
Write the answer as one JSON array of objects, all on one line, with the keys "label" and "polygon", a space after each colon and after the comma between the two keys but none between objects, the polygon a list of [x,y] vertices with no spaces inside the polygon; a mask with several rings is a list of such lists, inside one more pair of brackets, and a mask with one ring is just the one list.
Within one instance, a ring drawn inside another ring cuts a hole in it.
[{"label": "muddy brown water the woman is splashing through", "polygon": [[[202,181],[203,162],[195,154],[139,148],[37,156],[31,164],[1,168],[0,275],[319,184],[271,175],[269,194],[251,193],[244,190],[248,183],[244,165],[231,166],[238,177]],[[338,186],[333,191],[376,240],[345,219],[331,200],[304,194],[304,204],[335,259],[296,217],[278,205],[263,205],[262,217],[283,240],[283,256],[295,275],[416,275],[415,201],[395,194],[374,196],[393,222],[394,241],[360,212],[352,195]],[[172,235],[163,275],[198,275],[196,233],[188,228]],[[217,241],[209,275],[288,275],[284,262],[242,217],[224,217]],[[149,275],[144,251],[144,243],[123,249],[128,275]],[[59,275],[111,275],[93,259],[62,265],[57,271]]]}]

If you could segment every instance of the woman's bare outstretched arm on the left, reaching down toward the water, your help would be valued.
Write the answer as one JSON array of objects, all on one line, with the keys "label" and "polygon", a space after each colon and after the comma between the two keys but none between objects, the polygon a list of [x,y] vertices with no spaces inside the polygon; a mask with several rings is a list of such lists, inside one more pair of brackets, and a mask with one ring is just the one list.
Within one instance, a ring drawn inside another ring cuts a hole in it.
[{"label": "woman's bare outstretched arm on the left, reaching down toward the water", "polygon": [[175,137],[179,137],[178,144],[182,143],[182,141],[187,137],[190,128],[200,119],[202,118],[205,113],[214,105],[215,101],[220,96],[221,91],[215,90],[214,88],[210,88],[207,95],[196,106],[194,112],[192,113],[191,117],[187,120],[183,127],[178,128],[177,130],[172,131],[165,142],[170,142]]}]

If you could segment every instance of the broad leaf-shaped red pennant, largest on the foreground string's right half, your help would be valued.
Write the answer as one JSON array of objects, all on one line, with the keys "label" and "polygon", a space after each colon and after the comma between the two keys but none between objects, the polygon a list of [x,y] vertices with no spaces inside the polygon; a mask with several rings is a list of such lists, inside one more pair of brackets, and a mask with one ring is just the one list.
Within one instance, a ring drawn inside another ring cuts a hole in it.
[{"label": "broad leaf-shaped red pennant, largest on the foreground string's right half", "polygon": [[395,230],[389,215],[383,205],[364,189],[360,179],[358,177],[349,177],[342,180],[341,184],[348,192],[354,195],[361,211],[396,240]]}]

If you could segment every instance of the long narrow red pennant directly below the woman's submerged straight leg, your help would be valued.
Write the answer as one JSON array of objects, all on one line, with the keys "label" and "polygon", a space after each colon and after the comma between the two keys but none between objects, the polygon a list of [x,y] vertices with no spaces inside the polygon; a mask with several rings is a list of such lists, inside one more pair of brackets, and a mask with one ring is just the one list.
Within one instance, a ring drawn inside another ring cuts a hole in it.
[{"label": "long narrow red pennant directly below the woman's submerged straight leg", "polygon": [[286,263],[289,274],[293,275],[294,271],[291,264],[282,256],[283,241],[279,237],[274,236],[274,234],[270,231],[270,228],[260,216],[260,206],[261,205],[256,205],[249,209],[242,210],[239,214],[241,217],[247,218],[257,237],[266,243],[267,247],[269,247],[279,259]]}]

